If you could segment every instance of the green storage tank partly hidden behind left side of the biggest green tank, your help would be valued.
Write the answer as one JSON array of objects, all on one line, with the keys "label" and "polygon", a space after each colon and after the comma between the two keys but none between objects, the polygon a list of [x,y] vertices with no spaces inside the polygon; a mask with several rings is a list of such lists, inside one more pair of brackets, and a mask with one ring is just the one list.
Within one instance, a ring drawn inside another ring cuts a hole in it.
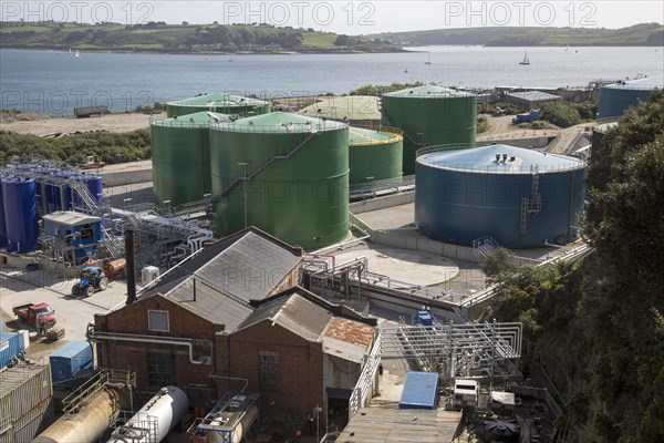
[{"label": "green storage tank partly hidden behind left side of the biggest green tank", "polygon": [[151,123],[155,203],[177,206],[210,194],[210,122],[229,116],[197,112]]}]

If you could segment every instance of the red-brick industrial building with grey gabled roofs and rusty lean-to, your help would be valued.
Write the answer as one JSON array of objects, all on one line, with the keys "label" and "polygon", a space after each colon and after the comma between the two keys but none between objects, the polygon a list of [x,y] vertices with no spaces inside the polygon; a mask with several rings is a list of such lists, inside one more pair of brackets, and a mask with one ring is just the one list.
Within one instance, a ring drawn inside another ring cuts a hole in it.
[{"label": "red-brick industrial building with grey gabled roofs and rusty lean-to", "polygon": [[[98,365],[137,389],[183,388],[193,406],[260,392],[274,420],[347,404],[375,319],[298,287],[302,253],[245,229],[166,274],[128,306],[95,316]],[[333,408],[334,409],[334,408]]]}]

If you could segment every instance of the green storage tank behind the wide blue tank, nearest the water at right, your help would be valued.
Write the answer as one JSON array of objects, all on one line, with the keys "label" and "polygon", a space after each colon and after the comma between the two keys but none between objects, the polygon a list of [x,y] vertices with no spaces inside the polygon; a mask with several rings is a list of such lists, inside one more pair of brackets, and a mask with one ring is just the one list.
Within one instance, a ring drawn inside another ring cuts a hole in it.
[{"label": "green storage tank behind the wide blue tank, nearest the water at right", "polygon": [[475,146],[477,95],[435,84],[381,97],[382,124],[404,132],[404,175],[415,174],[415,153],[426,146]]}]

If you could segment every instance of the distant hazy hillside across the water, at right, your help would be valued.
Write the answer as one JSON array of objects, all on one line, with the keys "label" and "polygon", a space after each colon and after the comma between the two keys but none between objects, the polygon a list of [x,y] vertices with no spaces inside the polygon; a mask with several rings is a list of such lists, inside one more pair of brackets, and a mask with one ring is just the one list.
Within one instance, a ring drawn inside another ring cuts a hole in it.
[{"label": "distant hazy hillside across the water, at right", "polygon": [[413,32],[388,32],[366,35],[400,45],[471,44],[486,47],[546,45],[664,45],[664,27],[641,23],[621,29],[583,28],[465,28]]}]

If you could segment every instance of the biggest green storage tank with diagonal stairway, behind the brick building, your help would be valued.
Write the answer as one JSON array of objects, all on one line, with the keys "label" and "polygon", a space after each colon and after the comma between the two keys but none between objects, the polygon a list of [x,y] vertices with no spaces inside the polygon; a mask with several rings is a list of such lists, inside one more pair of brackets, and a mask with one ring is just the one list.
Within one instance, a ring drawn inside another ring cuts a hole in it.
[{"label": "biggest green storage tank with diagonal stairway, behind the brick building", "polygon": [[345,123],[276,112],[210,125],[215,235],[256,226],[303,249],[349,236]]}]

